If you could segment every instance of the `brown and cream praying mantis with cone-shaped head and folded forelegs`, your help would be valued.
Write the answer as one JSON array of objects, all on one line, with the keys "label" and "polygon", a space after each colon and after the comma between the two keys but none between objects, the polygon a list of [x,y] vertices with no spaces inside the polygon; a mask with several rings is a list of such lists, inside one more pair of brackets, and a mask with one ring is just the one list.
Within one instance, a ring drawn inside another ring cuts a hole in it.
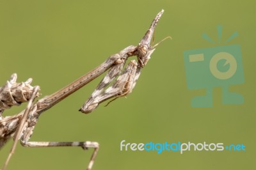
[{"label": "brown and cream praying mantis with cone-shaped head and folded forelegs", "polygon": [[[131,45],[117,54],[113,54],[106,59],[104,63],[97,66],[91,72],[86,73],[76,81],[65,86],[65,88],[62,88],[59,91],[56,91],[56,93],[44,97],[37,102],[34,102],[34,100],[39,96],[40,87],[31,86],[30,84],[32,79],[28,79],[28,81],[23,83],[17,83],[17,74],[14,73],[11,76],[10,81],[7,81],[6,85],[3,86],[3,88],[0,88],[0,148],[8,141],[8,139],[11,137],[14,138],[12,149],[2,170],[6,170],[8,162],[10,161],[19,140],[22,146],[28,147],[79,146],[84,150],[93,148],[94,151],[87,166],[88,170],[92,169],[97,152],[99,151],[99,143],[95,141],[33,142],[29,141],[33,134],[33,129],[35,128],[38,118],[42,112],[47,111],[52,106],[58,104],[58,102],[67,98],[69,95],[77,91],[77,89],[82,88],[106,71],[108,71],[108,73],[106,73],[95,91],[93,91],[90,98],[88,98],[79,111],[88,114],[106,100],[110,100],[111,102],[116,98],[124,97],[131,93],[138,78],[140,77],[142,68],[147,65],[150,56],[159,44],[157,43],[152,46],[150,45],[150,42],[154,36],[154,30],[157,22],[161,18],[163,12],[164,10],[161,10],[161,12],[156,15],[138,45]],[[136,56],[137,61],[131,60],[124,68],[127,59],[131,56]],[[116,77],[118,78],[115,80]],[[111,82],[113,82],[113,84],[109,86]],[[24,111],[14,116],[3,116],[5,109],[8,109],[13,105],[19,105],[22,102],[28,102]]]}]

